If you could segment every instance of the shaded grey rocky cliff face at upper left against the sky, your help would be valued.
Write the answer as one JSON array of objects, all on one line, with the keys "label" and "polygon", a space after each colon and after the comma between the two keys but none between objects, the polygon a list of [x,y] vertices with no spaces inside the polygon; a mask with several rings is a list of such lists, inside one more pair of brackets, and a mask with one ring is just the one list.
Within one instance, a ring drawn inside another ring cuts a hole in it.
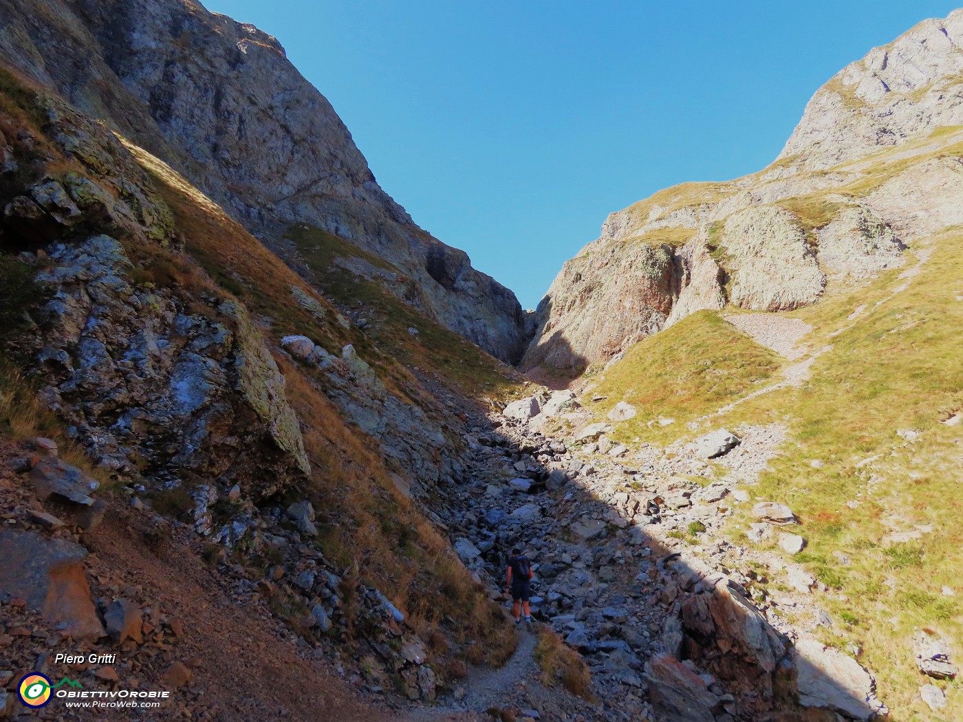
[{"label": "shaded grey rocky cliff face at upper left against the sky", "polygon": [[514,295],[377,185],[277,40],[195,2],[0,3],[0,54],[185,174],[261,236],[305,222],[411,279],[404,300],[493,355],[528,341]]}]

